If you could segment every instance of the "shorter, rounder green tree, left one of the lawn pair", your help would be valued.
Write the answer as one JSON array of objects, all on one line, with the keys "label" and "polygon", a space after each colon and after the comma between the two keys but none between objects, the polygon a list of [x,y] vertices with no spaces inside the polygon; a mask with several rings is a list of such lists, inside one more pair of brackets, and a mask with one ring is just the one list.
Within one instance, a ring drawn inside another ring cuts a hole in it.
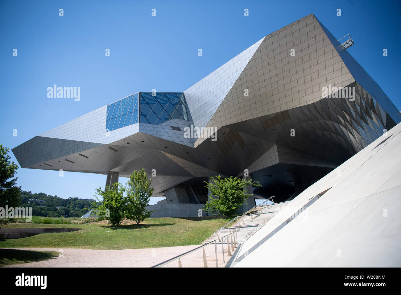
[{"label": "shorter, rounder green tree, left one of the lawn pair", "polygon": [[103,197],[103,201],[99,203],[91,202],[95,214],[102,219],[108,220],[112,226],[118,226],[124,219],[126,207],[125,190],[126,188],[121,183],[112,183],[111,189],[107,185],[104,191],[101,187],[97,188],[94,196],[98,201],[99,199],[96,195]]}]

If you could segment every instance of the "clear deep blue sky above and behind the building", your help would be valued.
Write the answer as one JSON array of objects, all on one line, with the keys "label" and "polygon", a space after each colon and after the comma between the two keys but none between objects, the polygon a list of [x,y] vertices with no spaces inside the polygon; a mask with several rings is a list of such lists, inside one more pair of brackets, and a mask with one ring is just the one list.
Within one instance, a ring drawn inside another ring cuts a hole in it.
[{"label": "clear deep blue sky above and behind the building", "polygon": [[[1,0],[0,143],[11,150],[138,91],[183,92],[265,35],[310,13],[337,39],[352,36],[350,54],[401,108],[400,6],[400,1],[366,0]],[[53,84],[81,87],[81,100],[47,98]],[[91,198],[106,180],[35,169],[19,169],[18,177],[25,191],[62,198]]]}]

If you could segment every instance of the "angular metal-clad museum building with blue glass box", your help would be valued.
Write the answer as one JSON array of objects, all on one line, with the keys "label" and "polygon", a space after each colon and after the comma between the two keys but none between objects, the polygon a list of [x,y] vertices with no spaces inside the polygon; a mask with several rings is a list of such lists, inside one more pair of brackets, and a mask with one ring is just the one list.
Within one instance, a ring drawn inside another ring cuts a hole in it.
[{"label": "angular metal-clad museum building with blue glass box", "polygon": [[[160,204],[204,204],[209,177],[247,177],[255,198],[292,199],[400,122],[397,108],[310,14],[184,92],[138,92],[12,149],[23,168],[145,168]],[[198,132],[197,132],[198,131]],[[340,171],[338,173],[341,173]],[[197,207],[196,207],[197,208]]]}]

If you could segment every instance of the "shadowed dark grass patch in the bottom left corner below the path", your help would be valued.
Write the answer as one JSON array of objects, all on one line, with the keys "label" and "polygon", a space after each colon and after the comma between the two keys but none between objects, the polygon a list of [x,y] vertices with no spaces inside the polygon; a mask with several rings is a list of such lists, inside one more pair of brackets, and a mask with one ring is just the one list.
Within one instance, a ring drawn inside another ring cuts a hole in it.
[{"label": "shadowed dark grass patch in the bottom left corner below the path", "polygon": [[57,256],[59,256],[59,252],[56,251],[0,249],[0,267],[12,264],[41,261]]}]

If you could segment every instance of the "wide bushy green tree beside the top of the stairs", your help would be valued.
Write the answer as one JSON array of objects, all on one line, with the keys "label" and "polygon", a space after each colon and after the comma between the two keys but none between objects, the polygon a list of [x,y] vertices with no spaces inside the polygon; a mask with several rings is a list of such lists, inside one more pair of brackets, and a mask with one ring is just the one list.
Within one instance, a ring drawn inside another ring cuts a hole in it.
[{"label": "wide bushy green tree beside the top of the stairs", "polygon": [[252,179],[240,179],[238,177],[229,177],[221,179],[221,176],[213,177],[214,183],[207,183],[207,188],[211,191],[211,197],[215,197],[206,202],[203,207],[209,213],[219,214],[224,216],[232,216],[237,213],[237,210],[244,201],[247,200],[248,196],[252,194],[246,194],[243,190],[247,185],[261,186],[257,181]]}]

